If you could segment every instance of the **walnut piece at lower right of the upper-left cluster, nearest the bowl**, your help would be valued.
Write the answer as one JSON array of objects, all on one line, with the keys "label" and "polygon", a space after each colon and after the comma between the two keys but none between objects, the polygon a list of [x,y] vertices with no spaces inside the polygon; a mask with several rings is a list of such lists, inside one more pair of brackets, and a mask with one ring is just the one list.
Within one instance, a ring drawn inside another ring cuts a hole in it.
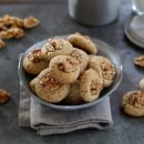
[{"label": "walnut piece at lower right of the upper-left cluster, nearest the bowl", "polygon": [[20,28],[10,28],[8,31],[13,35],[13,38],[17,39],[22,38],[24,35],[23,30]]}]

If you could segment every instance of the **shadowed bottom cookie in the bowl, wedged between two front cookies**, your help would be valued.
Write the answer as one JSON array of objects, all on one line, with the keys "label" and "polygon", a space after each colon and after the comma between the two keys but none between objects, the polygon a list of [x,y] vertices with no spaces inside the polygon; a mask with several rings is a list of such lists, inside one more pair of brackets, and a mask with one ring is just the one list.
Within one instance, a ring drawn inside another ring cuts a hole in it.
[{"label": "shadowed bottom cookie in the bowl, wedged between two front cookies", "polygon": [[78,105],[84,103],[80,94],[80,81],[76,80],[70,85],[70,93],[63,102],[69,105]]}]

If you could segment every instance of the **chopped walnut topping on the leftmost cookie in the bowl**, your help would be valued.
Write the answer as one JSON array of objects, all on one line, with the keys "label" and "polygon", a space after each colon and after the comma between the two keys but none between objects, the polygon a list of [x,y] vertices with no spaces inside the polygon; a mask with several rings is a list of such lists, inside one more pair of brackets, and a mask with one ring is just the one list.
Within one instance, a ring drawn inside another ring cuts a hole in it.
[{"label": "chopped walnut topping on the leftmost cookie in the bowl", "polygon": [[41,55],[41,50],[37,49],[29,53],[28,59],[33,63],[39,63],[41,61],[40,55]]}]

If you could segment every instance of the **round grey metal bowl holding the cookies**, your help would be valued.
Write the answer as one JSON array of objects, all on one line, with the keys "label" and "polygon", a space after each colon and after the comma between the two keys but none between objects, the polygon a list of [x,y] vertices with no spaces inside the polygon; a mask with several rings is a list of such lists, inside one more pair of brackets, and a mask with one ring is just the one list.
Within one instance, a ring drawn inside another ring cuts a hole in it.
[{"label": "round grey metal bowl holding the cookies", "polygon": [[[65,38],[66,35],[61,35],[61,38]],[[101,102],[104,97],[110,96],[112,94],[113,91],[115,91],[115,89],[119,86],[121,80],[122,80],[122,75],[123,75],[123,66],[122,66],[122,62],[121,59],[119,56],[119,54],[106,43],[102,42],[101,40],[97,39],[92,39],[99,49],[99,55],[103,55],[109,58],[113,64],[115,65],[116,69],[116,76],[114,79],[114,82],[112,84],[111,88],[105,89],[102,91],[100,97],[91,103],[84,103],[84,104],[80,104],[80,105],[59,105],[59,104],[51,104],[45,102],[44,100],[38,97],[30,89],[29,86],[29,82],[32,79],[32,76],[30,74],[28,74],[22,66],[22,62],[23,62],[23,58],[33,49],[42,47],[47,40],[43,40],[41,42],[35,43],[34,45],[32,45],[31,48],[29,48],[21,56],[20,56],[20,61],[19,61],[19,66],[18,66],[18,72],[19,72],[19,78],[20,81],[23,83],[23,86],[25,88],[25,90],[30,93],[31,96],[33,96],[33,99],[37,100],[38,103],[41,103],[48,107],[51,109],[55,109],[55,110],[63,110],[63,111],[72,111],[72,110],[80,110],[80,109],[85,109],[85,107],[90,107],[93,106],[95,104],[97,104],[99,102]]]}]

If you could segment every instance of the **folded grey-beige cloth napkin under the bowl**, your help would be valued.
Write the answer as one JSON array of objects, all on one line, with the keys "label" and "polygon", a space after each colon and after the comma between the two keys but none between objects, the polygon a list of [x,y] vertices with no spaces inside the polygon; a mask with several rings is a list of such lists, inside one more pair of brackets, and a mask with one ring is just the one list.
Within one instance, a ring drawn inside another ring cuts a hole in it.
[{"label": "folded grey-beige cloth napkin under the bowl", "polygon": [[62,134],[81,128],[105,130],[113,125],[109,96],[95,106],[59,111],[38,103],[20,82],[19,125],[32,127],[39,135]]}]

